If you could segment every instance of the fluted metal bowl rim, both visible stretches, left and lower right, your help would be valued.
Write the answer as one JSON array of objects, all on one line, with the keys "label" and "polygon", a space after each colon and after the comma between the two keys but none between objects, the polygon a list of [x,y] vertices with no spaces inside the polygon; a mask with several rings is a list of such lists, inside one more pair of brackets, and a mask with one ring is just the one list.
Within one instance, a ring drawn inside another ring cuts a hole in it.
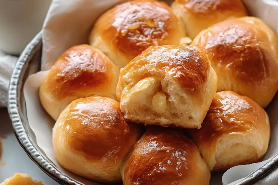
[{"label": "fluted metal bowl rim, both visible stretches, left and lower right", "polygon": [[[20,146],[27,153],[29,158],[36,163],[38,167],[49,177],[61,184],[70,184],[70,185],[83,185],[78,181],[71,179],[68,175],[65,175],[48,159],[42,156],[42,153],[34,146],[34,142],[29,138],[28,131],[24,128],[23,122],[28,122],[23,119],[23,113],[19,109],[20,90],[23,89],[24,83],[19,79],[22,79],[24,76],[23,68],[29,65],[30,54],[35,49],[36,46],[42,42],[42,31],[40,31],[34,39],[27,45],[22,54],[20,55],[18,61],[15,64],[15,68],[11,75],[11,80],[8,89],[8,112],[11,118],[13,125],[13,130],[15,137],[17,138]],[[259,180],[263,179],[269,175],[272,171],[278,168],[278,154],[274,156],[269,162],[265,165],[242,179],[240,182],[234,185],[251,185]]]}]

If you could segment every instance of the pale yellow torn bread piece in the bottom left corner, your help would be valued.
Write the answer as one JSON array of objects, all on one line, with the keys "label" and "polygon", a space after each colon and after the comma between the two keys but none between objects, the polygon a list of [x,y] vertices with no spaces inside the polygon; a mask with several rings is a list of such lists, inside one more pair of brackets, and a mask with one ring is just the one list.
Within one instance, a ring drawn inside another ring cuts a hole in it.
[{"label": "pale yellow torn bread piece in the bottom left corner", "polygon": [[16,173],[0,185],[43,185],[43,183],[41,181],[33,180],[27,174]]}]

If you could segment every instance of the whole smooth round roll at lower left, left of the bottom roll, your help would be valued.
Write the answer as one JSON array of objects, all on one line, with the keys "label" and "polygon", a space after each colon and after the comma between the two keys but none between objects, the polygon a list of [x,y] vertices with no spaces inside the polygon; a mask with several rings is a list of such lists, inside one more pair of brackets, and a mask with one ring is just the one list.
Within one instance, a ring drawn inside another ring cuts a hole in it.
[{"label": "whole smooth round roll at lower left, left of the bottom roll", "polygon": [[124,156],[139,139],[136,124],[129,124],[119,102],[106,97],[74,100],[53,128],[53,149],[69,171],[97,181],[120,181]]}]

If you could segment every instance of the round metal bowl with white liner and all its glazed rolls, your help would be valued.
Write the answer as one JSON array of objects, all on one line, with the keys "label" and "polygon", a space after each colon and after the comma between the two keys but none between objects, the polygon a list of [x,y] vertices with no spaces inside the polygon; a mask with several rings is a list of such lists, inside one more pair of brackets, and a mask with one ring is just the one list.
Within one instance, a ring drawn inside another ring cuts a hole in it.
[{"label": "round metal bowl with white liner and all its glazed rolls", "polygon": [[11,78],[20,145],[61,184],[269,178],[277,11],[271,0],[53,0]]}]

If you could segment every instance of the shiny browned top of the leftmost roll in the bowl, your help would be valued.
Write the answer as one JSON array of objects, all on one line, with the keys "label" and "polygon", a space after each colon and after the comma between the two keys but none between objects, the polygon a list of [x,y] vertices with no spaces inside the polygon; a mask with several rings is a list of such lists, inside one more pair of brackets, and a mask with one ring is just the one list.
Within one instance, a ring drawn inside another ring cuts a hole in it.
[{"label": "shiny browned top of the leftmost roll in the bowl", "polygon": [[112,81],[112,61],[101,51],[83,44],[71,47],[56,61],[48,73],[57,100]]}]

